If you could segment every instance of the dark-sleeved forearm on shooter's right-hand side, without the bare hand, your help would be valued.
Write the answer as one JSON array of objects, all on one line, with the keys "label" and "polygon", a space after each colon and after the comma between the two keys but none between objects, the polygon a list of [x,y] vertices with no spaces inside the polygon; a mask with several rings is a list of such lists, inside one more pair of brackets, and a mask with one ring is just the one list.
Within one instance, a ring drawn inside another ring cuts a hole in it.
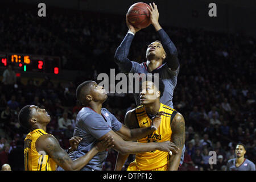
[{"label": "dark-sleeved forearm on shooter's right-hand side, without the bare hand", "polygon": [[179,59],[177,59],[177,48],[174,43],[171,41],[170,37],[166,34],[166,32],[161,28],[158,31],[158,35],[160,37],[160,41],[163,44],[164,49],[167,51],[167,65],[168,68],[172,70],[176,70],[179,67]]}]

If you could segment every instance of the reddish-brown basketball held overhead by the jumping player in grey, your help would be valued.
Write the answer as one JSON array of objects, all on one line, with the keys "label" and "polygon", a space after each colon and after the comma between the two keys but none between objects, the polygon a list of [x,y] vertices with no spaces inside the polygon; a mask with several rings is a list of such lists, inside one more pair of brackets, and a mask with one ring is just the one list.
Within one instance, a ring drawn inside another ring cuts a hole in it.
[{"label": "reddish-brown basketball held overhead by the jumping player in grey", "polygon": [[150,12],[147,7],[150,8],[149,5],[143,2],[137,2],[129,8],[127,12],[127,18],[129,22],[136,28],[146,28],[148,27],[150,22]]}]

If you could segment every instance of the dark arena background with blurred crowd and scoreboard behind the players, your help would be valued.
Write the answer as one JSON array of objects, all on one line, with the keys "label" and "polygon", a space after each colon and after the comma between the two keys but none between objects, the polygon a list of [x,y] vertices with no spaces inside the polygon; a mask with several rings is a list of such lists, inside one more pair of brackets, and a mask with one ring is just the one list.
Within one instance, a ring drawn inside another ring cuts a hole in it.
[{"label": "dark arena background with blurred crowd and scoreboard behind the players", "polygon": [[[42,2],[46,16],[40,17]],[[25,105],[45,108],[51,115],[47,133],[69,147],[82,108],[76,87],[100,73],[110,75],[110,69],[119,73],[114,54],[128,31],[127,10],[136,2],[1,0],[0,167],[7,163],[13,171],[24,170],[28,132],[19,125],[18,113]],[[236,158],[237,143],[245,144],[245,158],[255,164],[255,1],[154,2],[180,62],[173,103],[185,119],[186,151],[179,170],[225,171],[228,160]],[[212,2],[217,16],[208,14]],[[152,25],[139,31],[129,59],[144,62],[155,39]],[[5,75],[8,69],[15,79]],[[108,94],[104,107],[124,123],[134,97]],[[208,163],[209,151],[216,151],[217,164]],[[116,158],[110,149],[103,170],[114,170]],[[123,170],[133,160],[130,155]]]}]

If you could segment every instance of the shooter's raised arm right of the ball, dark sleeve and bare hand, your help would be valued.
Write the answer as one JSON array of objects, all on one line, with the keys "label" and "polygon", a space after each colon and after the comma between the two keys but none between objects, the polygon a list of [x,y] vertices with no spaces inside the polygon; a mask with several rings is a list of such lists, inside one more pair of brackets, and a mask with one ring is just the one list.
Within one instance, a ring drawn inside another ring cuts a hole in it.
[{"label": "shooter's raised arm right of the ball, dark sleeve and bare hand", "polygon": [[150,11],[151,23],[155,27],[155,31],[160,37],[160,41],[163,44],[164,50],[166,50],[166,53],[168,54],[168,56],[166,57],[167,66],[172,71],[175,71],[179,67],[179,59],[177,58],[177,48],[158,22],[158,7],[155,5],[155,3],[153,3],[153,6],[150,3],[150,7],[151,9],[148,8],[148,10]]}]

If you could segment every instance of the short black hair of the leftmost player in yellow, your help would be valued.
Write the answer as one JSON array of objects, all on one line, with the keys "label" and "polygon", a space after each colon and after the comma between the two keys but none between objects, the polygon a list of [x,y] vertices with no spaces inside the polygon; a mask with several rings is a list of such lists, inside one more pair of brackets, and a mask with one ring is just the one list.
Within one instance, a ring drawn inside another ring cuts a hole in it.
[{"label": "short black hair of the leftmost player in yellow", "polygon": [[19,114],[18,114],[18,120],[19,120],[20,125],[27,130],[31,129],[31,125],[29,122],[31,119],[30,112],[31,112],[30,105],[26,105],[26,106],[22,107],[22,109],[20,109]]}]

